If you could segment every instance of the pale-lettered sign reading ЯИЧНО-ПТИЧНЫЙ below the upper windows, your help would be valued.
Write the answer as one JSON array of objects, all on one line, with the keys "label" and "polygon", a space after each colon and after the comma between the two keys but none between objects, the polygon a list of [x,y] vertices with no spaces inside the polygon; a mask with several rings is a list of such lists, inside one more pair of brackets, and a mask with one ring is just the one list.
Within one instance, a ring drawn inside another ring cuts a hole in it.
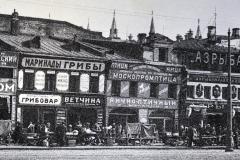
[{"label": "pale-lettered sign reading \u042f\u0418\u0427\u041d\u041e-\u041f\u0422\u0418\u0427\u041d\u042b\u0419 below the upper windows", "polygon": [[107,97],[107,106],[177,109],[178,102],[177,100],[168,100],[168,99]]}]

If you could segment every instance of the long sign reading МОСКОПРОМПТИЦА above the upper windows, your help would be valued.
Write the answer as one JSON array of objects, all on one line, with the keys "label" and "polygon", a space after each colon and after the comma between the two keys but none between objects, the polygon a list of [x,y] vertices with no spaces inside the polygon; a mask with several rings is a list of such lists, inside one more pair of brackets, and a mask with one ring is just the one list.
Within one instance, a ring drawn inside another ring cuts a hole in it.
[{"label": "long sign reading \u041c\u041e\u0421\u041a\u041e\u041f\u0420\u041e\u041c\u041f\u0422\u0418\u0426\u0410 above the upper windows", "polygon": [[156,82],[156,83],[180,83],[180,77],[171,74],[160,74],[154,72],[152,74],[146,72],[133,72],[133,71],[122,71],[122,70],[110,70],[109,79],[117,80],[129,80],[129,81],[145,81],[145,82]]}]

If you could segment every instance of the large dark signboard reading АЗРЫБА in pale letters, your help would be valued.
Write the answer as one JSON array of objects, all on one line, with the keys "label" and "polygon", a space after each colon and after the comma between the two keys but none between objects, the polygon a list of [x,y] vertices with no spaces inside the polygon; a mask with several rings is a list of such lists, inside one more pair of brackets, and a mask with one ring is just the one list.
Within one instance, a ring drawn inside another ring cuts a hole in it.
[{"label": "large dark signboard reading \u0410\u0417\u0420\u042b\u0411\u0410 in pale letters", "polygon": [[[189,52],[186,60],[189,69],[227,72],[227,53]],[[240,72],[240,54],[231,55],[231,66],[232,72]]]}]

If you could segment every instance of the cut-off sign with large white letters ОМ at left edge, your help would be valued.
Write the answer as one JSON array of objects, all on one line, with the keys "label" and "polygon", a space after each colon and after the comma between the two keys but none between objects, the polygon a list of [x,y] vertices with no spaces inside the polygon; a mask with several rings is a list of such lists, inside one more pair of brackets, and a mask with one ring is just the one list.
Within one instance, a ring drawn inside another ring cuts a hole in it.
[{"label": "cut-off sign with large white letters \u041e\u041c at left edge", "polygon": [[16,79],[0,78],[0,94],[15,94],[16,86]]}]

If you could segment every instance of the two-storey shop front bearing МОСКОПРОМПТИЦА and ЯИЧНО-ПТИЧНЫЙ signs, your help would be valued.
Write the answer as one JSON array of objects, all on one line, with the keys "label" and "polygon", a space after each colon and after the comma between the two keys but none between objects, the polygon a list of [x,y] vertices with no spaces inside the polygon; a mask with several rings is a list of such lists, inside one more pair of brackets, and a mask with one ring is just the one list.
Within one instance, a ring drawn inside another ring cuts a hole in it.
[{"label": "two-storey shop front bearing \u041c\u041e\u0421\u041a\u041e\u041f\u0420\u041e\u041c\u041f\u0422\u0418\u0426\u0410 and \u042f\u0418\u0427\u041d\u041e-\u041f\u0422\u0418\u0427\u041d\u042b\u0419 signs", "polygon": [[159,132],[178,128],[181,68],[113,62],[107,80],[108,124],[151,123]]}]

